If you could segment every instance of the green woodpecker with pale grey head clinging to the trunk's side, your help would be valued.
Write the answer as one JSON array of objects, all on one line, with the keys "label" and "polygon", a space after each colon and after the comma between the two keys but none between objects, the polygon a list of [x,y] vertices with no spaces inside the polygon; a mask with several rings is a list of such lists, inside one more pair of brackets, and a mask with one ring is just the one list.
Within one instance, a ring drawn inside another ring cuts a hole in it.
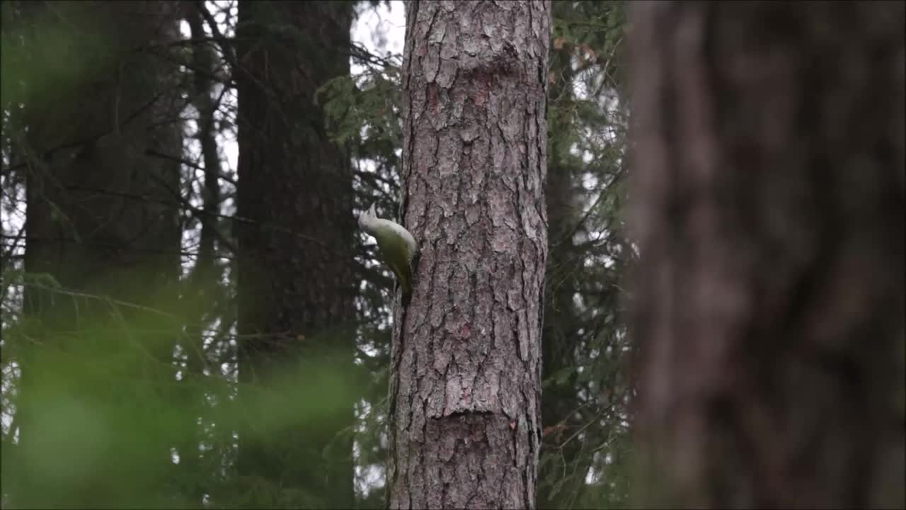
[{"label": "green woodpecker with pale grey head clinging to the trunk's side", "polygon": [[397,275],[404,301],[412,295],[412,259],[419,246],[405,227],[395,221],[378,218],[374,204],[359,216],[359,225],[378,241],[381,257]]}]

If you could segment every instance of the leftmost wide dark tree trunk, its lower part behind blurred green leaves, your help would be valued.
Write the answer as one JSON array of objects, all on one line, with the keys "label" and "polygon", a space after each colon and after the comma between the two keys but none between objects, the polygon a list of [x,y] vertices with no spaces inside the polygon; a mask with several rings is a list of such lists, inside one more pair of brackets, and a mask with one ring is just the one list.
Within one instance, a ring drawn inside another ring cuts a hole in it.
[{"label": "leftmost wide dark tree trunk, its lower part behind blurred green leaves", "polygon": [[149,430],[158,416],[136,387],[109,381],[143,378],[137,391],[157,391],[173,377],[179,325],[164,314],[179,277],[179,163],[149,153],[181,152],[177,67],[155,48],[178,38],[174,5],[27,10],[28,132],[16,148],[28,163],[24,267],[80,295],[25,289],[24,311],[41,329],[22,358],[21,451],[4,466],[19,478],[11,501],[157,504],[174,439]]}]

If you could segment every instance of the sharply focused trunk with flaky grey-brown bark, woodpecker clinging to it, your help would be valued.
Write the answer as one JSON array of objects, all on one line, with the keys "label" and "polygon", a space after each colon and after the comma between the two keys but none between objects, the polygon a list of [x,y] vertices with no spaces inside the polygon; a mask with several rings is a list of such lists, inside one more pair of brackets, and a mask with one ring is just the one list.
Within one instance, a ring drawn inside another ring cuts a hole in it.
[{"label": "sharply focused trunk with flaky grey-brown bark, woodpecker clinging to it", "polygon": [[392,508],[530,508],[540,445],[548,2],[408,5]]}]

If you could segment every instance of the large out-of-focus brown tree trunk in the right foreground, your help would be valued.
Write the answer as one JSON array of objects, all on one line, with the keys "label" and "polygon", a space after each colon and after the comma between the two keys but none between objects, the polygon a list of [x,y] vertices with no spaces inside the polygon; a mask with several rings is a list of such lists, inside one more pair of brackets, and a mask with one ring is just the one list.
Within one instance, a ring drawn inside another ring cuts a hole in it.
[{"label": "large out-of-focus brown tree trunk in the right foreground", "polygon": [[902,508],[903,4],[632,7],[643,501]]}]

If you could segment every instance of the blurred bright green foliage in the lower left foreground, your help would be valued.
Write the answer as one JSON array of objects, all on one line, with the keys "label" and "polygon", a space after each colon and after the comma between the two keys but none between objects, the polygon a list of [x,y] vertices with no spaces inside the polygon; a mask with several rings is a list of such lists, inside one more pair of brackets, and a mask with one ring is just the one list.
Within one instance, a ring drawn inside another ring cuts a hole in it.
[{"label": "blurred bright green foliage in the lower left foreground", "polygon": [[[47,315],[5,324],[5,368],[14,363],[20,372],[12,405],[24,411],[17,422],[22,435],[4,440],[3,485],[14,506],[184,507],[186,500],[174,499],[180,492],[165,487],[192,483],[206,486],[218,501],[224,493],[215,490],[217,472],[231,464],[215,447],[216,435],[201,438],[202,465],[211,466],[192,474],[196,480],[183,479],[179,465],[162,455],[172,450],[184,462],[191,454],[178,446],[192,437],[202,415],[213,428],[235,431],[252,414],[257,418],[253,433],[266,441],[285,430],[325,427],[337,406],[358,392],[349,361],[332,360],[330,353],[280,368],[270,374],[267,387],[220,377],[235,359],[209,363],[205,373],[188,375],[173,353],[182,325],[154,311],[165,309],[165,303],[73,295],[48,285],[54,282],[46,275],[10,272],[6,282],[23,285],[26,293],[33,287],[52,292],[56,307],[82,310],[76,329]],[[185,397],[187,391],[207,395],[209,407],[199,408]],[[294,455],[292,445],[275,447]],[[205,474],[214,479],[202,479]],[[249,498],[253,506],[304,502],[292,484],[262,484],[252,481],[249,492],[237,497]]]}]

